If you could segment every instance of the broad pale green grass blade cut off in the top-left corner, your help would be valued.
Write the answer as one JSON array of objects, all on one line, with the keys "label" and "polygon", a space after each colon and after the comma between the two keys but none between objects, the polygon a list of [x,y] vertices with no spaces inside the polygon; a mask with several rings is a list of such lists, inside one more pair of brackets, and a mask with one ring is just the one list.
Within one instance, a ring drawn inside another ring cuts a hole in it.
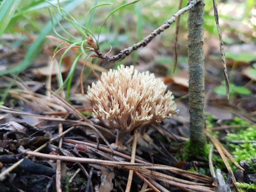
[{"label": "broad pale green grass blade cut off in the top-left corner", "polygon": [[0,5],[0,38],[8,26],[20,0],[3,0]]}]

